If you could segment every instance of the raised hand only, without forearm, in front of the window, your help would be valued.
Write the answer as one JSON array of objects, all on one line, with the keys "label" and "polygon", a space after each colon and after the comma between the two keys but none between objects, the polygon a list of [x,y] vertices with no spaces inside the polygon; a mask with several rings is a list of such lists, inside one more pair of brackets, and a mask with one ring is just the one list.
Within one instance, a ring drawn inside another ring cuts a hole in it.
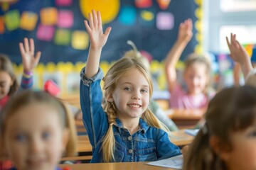
[{"label": "raised hand only, without forearm, in front of the window", "polygon": [[236,35],[231,33],[230,34],[230,42],[228,40],[228,37],[226,37],[226,41],[228,44],[228,48],[230,50],[230,57],[235,61],[242,64],[245,64],[247,60],[250,60],[249,55],[247,54],[246,50],[242,45],[240,45],[240,42],[236,40]]}]

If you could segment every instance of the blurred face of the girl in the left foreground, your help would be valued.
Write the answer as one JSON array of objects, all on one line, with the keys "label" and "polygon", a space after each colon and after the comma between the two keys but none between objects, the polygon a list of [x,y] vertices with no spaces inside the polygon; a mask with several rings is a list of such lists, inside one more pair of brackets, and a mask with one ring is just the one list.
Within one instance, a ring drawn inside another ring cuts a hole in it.
[{"label": "blurred face of the girl in the left foreground", "polygon": [[6,120],[4,146],[19,170],[53,170],[65,149],[68,130],[46,103],[31,103]]}]

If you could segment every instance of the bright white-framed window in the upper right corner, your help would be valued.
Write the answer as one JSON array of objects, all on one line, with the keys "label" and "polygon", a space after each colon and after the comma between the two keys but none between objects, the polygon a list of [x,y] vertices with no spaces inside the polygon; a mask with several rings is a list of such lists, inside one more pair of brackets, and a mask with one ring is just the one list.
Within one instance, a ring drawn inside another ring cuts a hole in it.
[{"label": "bright white-framed window in the upper right corner", "polygon": [[256,0],[204,0],[203,49],[228,52],[225,37],[235,33],[242,44],[256,42]]}]

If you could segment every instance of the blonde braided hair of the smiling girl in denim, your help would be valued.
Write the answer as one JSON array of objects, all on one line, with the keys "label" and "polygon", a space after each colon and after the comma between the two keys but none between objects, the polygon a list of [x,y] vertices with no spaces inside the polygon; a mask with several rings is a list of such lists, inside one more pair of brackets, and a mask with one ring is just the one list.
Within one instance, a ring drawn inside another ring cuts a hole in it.
[{"label": "blonde braided hair of the smiling girl in denim", "polygon": [[[107,130],[107,134],[105,135],[102,141],[102,156],[103,162],[111,162],[114,160],[114,132],[112,125],[114,125],[115,118],[117,118],[116,108],[113,102],[107,101],[107,97],[113,93],[114,89],[116,89],[119,79],[129,70],[138,69],[139,72],[144,74],[144,77],[149,82],[149,96],[151,98],[153,85],[151,81],[151,77],[149,72],[147,71],[144,64],[141,60],[137,58],[128,58],[124,57],[117,62],[115,62],[112,67],[110,67],[103,81],[105,81],[103,89],[105,90],[105,98],[106,102],[103,105],[105,112],[107,113],[109,128]],[[142,114],[142,119],[149,125],[155,128],[161,128],[163,130],[169,131],[165,128],[162,123],[156,118],[156,116],[149,111],[149,108],[146,108],[146,111]]]}]

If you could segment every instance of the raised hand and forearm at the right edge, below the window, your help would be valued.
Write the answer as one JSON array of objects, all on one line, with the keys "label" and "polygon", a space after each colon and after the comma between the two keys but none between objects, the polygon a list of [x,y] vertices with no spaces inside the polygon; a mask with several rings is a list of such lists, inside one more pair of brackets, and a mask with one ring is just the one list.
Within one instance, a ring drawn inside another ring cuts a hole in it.
[{"label": "raised hand and forearm at the right edge, below the window", "polygon": [[230,57],[234,62],[237,62],[244,75],[245,84],[256,86],[256,70],[252,67],[252,62],[246,50],[238,40],[236,40],[236,35],[230,34],[230,42],[228,37],[226,37],[228,48],[230,50]]}]

